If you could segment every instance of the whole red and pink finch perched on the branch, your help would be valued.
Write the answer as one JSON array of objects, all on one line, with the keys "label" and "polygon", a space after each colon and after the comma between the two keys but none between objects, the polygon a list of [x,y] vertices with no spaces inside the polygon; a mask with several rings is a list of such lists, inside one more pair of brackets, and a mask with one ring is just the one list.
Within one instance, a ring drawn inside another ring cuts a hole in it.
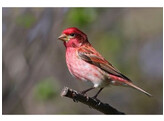
[{"label": "whole red and pink finch perched on the branch", "polygon": [[65,29],[58,39],[62,40],[66,47],[66,63],[70,73],[77,79],[93,83],[93,87],[82,91],[83,94],[100,88],[94,96],[97,98],[104,87],[115,85],[129,86],[151,96],[105,60],[89,43],[87,35],[78,28]]}]

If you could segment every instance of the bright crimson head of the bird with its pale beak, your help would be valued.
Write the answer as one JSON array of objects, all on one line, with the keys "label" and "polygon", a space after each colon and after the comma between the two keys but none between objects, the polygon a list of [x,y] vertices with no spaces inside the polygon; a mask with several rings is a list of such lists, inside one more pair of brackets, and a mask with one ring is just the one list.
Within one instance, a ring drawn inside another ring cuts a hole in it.
[{"label": "bright crimson head of the bird with its pale beak", "polygon": [[88,43],[87,35],[75,27],[65,29],[58,39],[64,41],[66,47],[80,47]]}]

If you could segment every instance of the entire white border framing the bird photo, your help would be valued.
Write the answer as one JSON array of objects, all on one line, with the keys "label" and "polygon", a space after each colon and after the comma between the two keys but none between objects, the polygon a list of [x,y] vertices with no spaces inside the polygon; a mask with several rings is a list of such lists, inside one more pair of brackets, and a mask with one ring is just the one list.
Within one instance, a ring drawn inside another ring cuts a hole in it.
[{"label": "entire white border framing the bird photo", "polygon": [[[163,7],[164,0],[1,0],[0,26],[2,28],[2,7]],[[2,38],[2,29],[0,30]],[[1,41],[2,42],[2,41]],[[0,43],[2,48],[2,43]],[[0,50],[0,68],[2,79],[2,49]],[[164,73],[164,72],[163,72]],[[2,83],[0,84],[2,87]],[[2,104],[2,89],[0,90]],[[1,114],[2,114],[2,105]],[[102,115],[1,115],[1,121],[163,121],[163,115],[131,115],[131,116],[102,116]]]}]

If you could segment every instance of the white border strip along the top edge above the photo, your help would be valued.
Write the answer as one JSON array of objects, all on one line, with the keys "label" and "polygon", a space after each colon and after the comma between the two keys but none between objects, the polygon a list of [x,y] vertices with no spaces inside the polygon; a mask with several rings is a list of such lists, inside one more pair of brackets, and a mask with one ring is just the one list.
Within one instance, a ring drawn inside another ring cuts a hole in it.
[{"label": "white border strip along the top edge above the photo", "polygon": [[1,0],[3,7],[163,7],[164,0]]}]

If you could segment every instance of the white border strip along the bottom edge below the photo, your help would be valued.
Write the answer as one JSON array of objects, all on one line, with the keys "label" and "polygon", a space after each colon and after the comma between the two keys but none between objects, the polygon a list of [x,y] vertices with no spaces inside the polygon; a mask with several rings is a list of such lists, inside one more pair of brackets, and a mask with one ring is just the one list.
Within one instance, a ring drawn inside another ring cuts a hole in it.
[{"label": "white border strip along the bottom edge below the photo", "polygon": [[15,115],[2,116],[3,121],[163,121],[159,115]]}]

